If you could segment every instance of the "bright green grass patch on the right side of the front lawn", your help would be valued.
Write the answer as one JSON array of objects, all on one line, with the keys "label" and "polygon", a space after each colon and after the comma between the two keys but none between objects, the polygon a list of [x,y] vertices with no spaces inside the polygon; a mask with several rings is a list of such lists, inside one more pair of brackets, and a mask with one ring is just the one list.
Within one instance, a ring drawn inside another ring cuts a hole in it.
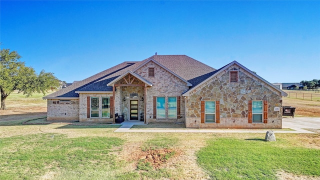
[{"label": "bright green grass patch on the right side of the front lawn", "polygon": [[320,150],[294,147],[285,139],[216,138],[197,152],[212,179],[276,179],[276,171],[320,176]]}]

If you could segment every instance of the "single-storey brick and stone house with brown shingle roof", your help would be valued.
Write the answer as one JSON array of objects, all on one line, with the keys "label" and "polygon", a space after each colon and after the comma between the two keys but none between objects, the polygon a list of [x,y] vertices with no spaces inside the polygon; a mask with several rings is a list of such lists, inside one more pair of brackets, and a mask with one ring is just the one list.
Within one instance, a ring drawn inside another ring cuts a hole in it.
[{"label": "single-storey brick and stone house with brown shingle roof", "polygon": [[184,122],[191,128],[281,128],[287,94],[240,63],[186,55],[125,61],[44,96],[47,120]]}]

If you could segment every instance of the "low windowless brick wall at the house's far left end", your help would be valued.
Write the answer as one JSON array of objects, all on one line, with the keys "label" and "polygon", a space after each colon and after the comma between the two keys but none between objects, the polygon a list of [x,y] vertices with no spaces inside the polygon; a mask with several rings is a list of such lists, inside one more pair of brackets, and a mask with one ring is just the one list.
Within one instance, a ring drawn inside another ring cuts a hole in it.
[{"label": "low windowless brick wall at the house's far left end", "polygon": [[78,120],[79,99],[47,99],[47,120]]}]

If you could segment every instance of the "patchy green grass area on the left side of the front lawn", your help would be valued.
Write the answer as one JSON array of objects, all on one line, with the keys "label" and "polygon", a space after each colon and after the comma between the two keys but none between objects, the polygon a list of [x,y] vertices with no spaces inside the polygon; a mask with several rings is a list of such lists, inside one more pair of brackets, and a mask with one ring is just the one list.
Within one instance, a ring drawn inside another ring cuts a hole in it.
[{"label": "patchy green grass area on the left side of the front lawn", "polygon": [[0,179],[38,179],[47,171],[60,170],[56,179],[63,179],[64,173],[68,179],[103,177],[120,168],[110,152],[122,144],[117,137],[66,138],[50,133],[1,138]]}]

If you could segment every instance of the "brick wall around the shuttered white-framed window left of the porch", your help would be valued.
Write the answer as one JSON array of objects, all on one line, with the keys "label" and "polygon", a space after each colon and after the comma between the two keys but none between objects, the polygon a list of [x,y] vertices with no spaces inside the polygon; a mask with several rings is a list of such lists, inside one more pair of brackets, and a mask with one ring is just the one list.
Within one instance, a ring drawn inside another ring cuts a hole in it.
[{"label": "brick wall around the shuttered white-framed window left of the porch", "polygon": [[[119,91],[117,91],[119,93]],[[91,97],[99,97],[99,117],[92,117],[92,118],[87,118],[86,117],[86,97],[91,96]],[[112,93],[80,93],[79,94],[79,121],[103,121],[103,122],[112,122],[112,118],[105,118],[101,117],[101,100],[102,97],[109,97],[112,96]]]}]

